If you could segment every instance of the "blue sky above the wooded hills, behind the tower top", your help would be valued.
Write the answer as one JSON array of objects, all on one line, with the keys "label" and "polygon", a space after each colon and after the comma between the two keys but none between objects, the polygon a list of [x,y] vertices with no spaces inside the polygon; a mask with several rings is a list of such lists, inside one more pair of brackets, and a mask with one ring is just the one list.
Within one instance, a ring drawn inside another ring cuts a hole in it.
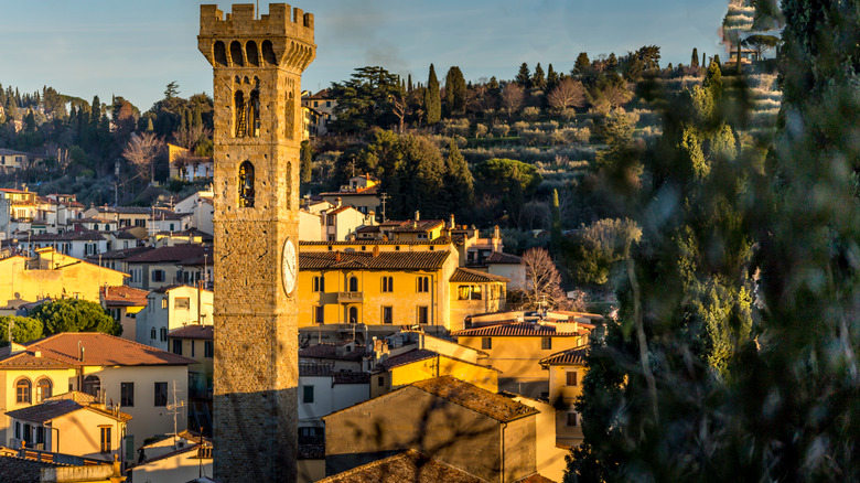
[{"label": "blue sky above the wooded hills, behind the tower top", "polygon": [[[103,103],[123,96],[141,111],[175,80],[180,95],[212,94],[197,52],[200,3],[189,0],[3,0],[0,83],[53,86]],[[229,11],[230,3],[222,2]],[[381,65],[427,80],[459,65],[467,80],[513,78],[519,64],[568,72],[580,52],[662,47],[660,65],[688,64],[692,47],[723,54],[728,0],[295,0],[315,15],[316,60],[302,87],[319,90],[353,68]],[[260,2],[268,11],[268,1]]]}]

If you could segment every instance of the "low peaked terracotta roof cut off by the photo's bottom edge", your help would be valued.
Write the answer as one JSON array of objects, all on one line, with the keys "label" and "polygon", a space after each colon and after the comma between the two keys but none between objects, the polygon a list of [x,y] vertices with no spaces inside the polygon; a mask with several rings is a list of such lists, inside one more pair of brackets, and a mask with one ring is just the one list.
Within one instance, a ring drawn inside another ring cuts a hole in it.
[{"label": "low peaked terracotta roof cut off by the photo's bottom edge", "polygon": [[485,483],[471,473],[427,458],[416,450],[407,450],[383,460],[322,479],[319,483]]}]

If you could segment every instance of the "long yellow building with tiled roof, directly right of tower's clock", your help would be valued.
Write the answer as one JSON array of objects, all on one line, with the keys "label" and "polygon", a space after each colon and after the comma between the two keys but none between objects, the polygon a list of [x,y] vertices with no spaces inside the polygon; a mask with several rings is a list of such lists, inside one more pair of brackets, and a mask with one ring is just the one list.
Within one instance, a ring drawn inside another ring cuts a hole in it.
[{"label": "long yellow building with tiled roof, directly right of tower's clock", "polygon": [[459,330],[504,310],[504,277],[463,269],[444,238],[301,244],[299,326],[419,325]]}]

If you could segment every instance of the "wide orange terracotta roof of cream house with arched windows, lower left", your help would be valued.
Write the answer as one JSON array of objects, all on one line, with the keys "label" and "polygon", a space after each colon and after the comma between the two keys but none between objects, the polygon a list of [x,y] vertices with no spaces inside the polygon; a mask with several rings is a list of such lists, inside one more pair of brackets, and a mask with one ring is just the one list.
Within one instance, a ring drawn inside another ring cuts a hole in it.
[{"label": "wide orange terracotta roof of cream house with arched windows, lower left", "polygon": [[[84,361],[78,357],[78,343]],[[26,352],[0,358],[0,367],[186,365],[196,361],[99,332],[64,332],[22,344]],[[35,352],[41,352],[41,357]]]}]

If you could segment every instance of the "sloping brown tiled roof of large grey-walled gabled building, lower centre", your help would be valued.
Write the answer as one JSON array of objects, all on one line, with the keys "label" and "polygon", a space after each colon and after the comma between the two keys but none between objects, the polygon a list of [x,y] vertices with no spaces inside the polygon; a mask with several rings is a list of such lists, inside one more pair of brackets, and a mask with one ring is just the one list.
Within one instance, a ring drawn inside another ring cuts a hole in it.
[{"label": "sloping brown tiled roof of large grey-walled gabled building, lower centre", "polygon": [[412,383],[411,387],[450,400],[451,402],[502,422],[513,421],[514,419],[540,412],[522,402],[517,402],[505,396],[491,393],[451,376],[419,380]]}]

